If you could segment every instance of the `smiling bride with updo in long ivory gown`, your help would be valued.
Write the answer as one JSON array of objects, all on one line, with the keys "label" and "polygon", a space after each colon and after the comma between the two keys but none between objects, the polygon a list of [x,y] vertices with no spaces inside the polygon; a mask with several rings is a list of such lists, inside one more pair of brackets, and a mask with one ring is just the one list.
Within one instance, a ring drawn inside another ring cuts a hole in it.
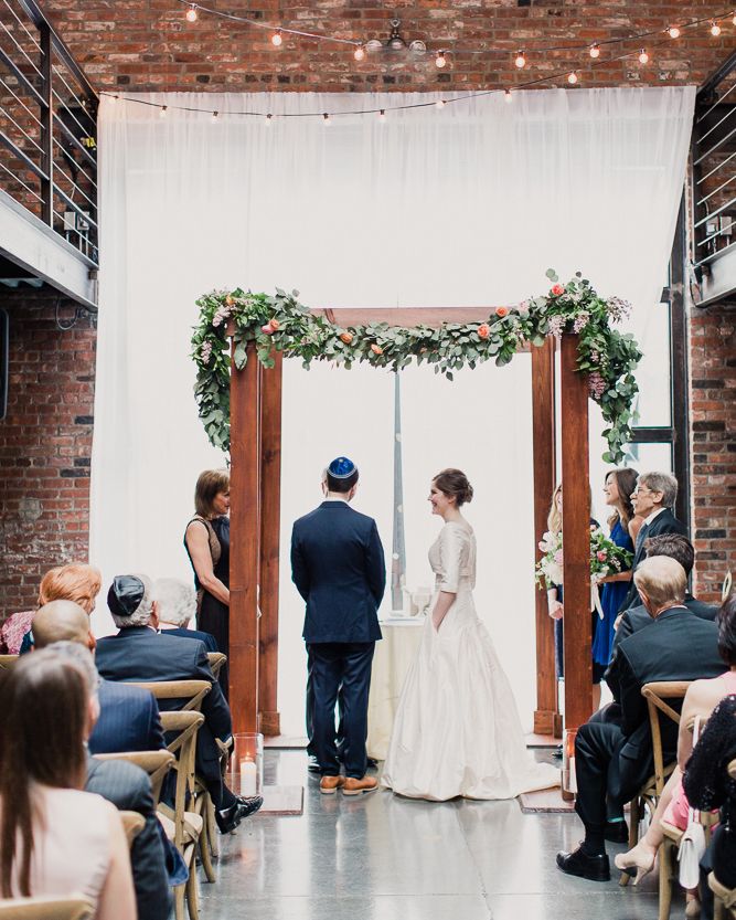
[{"label": "smiling bride with updo in long ivory gown", "polygon": [[459,469],[431,482],[431,512],[445,521],[429,550],[435,593],[381,780],[413,799],[513,799],[559,785],[559,770],[526,751],[511,686],[476,613],[476,537],[460,512],[471,499]]}]

